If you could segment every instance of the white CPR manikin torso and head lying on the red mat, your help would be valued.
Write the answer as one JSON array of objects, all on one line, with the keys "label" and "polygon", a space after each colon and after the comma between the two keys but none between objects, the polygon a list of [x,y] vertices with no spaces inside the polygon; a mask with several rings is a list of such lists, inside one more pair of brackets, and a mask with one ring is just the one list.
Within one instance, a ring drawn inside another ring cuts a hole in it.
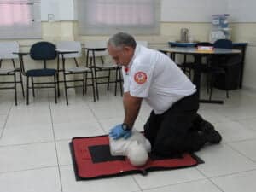
[{"label": "white CPR manikin torso and head lying on the red mat", "polygon": [[143,166],[148,160],[151,145],[142,133],[132,131],[131,137],[114,140],[109,137],[110,153],[113,156],[127,156],[132,166]]}]

